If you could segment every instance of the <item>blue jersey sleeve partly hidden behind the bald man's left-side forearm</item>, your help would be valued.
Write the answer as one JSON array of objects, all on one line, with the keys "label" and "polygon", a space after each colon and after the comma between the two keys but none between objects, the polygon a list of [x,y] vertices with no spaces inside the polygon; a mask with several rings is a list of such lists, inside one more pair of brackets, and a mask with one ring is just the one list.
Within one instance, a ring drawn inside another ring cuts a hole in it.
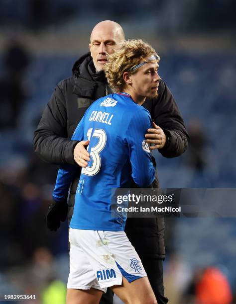
[{"label": "blue jersey sleeve partly hidden behind the bald man's left-side forearm", "polygon": [[[71,138],[73,141],[84,139],[84,117],[75,129]],[[52,197],[55,201],[65,201],[68,196],[70,185],[75,178],[77,167],[72,164],[63,164],[57,173],[55,188]]]}]

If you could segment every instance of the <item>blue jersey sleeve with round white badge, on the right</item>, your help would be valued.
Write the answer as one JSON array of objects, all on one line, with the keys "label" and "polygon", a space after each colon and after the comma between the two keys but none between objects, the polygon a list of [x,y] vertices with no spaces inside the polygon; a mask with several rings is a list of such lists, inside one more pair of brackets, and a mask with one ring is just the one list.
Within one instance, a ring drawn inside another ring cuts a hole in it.
[{"label": "blue jersey sleeve with round white badge, on the right", "polygon": [[149,186],[155,179],[151,152],[144,137],[149,128],[151,128],[150,114],[140,108],[131,118],[126,131],[132,178],[139,187]]}]

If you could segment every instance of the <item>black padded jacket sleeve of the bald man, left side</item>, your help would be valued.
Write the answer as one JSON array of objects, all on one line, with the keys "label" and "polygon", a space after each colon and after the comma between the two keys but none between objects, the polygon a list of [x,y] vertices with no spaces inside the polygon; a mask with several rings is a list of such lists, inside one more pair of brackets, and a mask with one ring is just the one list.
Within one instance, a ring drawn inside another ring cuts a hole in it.
[{"label": "black padded jacket sleeve of the bald man, left side", "polygon": [[78,141],[67,139],[67,136],[67,110],[61,82],[52,94],[34,132],[34,150],[46,162],[75,164],[74,149]]}]

